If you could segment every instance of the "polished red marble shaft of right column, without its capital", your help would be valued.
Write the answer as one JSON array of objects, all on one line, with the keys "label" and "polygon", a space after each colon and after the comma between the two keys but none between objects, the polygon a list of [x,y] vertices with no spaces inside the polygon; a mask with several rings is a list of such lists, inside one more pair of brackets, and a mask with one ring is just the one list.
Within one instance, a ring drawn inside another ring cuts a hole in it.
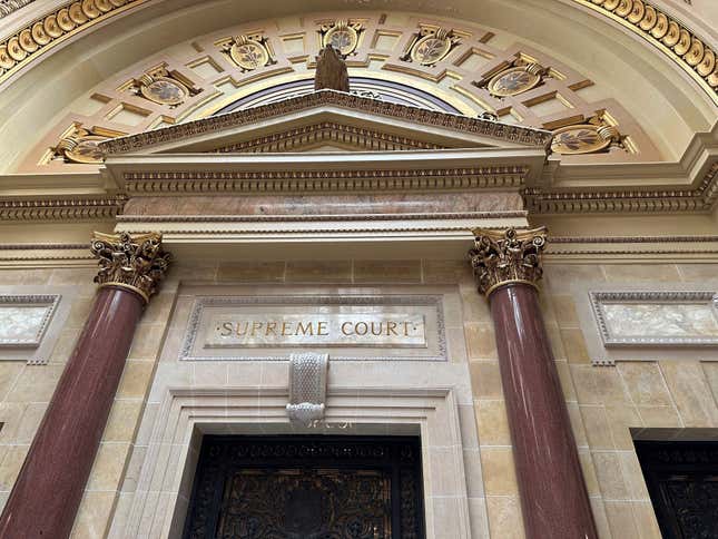
[{"label": "polished red marble shaft of right column, without its capital", "polygon": [[533,286],[490,296],[529,539],[596,539],[573,432]]}]

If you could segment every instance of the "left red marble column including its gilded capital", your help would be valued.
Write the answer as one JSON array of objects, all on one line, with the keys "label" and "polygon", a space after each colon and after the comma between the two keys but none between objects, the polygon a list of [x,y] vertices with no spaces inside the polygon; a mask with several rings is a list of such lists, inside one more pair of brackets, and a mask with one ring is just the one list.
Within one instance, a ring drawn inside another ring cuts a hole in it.
[{"label": "left red marble column including its gilded capital", "polygon": [[[159,236],[154,246],[147,236],[121,239],[94,243],[102,287],[0,516],[3,539],[61,539],[72,530],[137,322],[168,263]],[[98,253],[100,245],[109,251]]]}]

